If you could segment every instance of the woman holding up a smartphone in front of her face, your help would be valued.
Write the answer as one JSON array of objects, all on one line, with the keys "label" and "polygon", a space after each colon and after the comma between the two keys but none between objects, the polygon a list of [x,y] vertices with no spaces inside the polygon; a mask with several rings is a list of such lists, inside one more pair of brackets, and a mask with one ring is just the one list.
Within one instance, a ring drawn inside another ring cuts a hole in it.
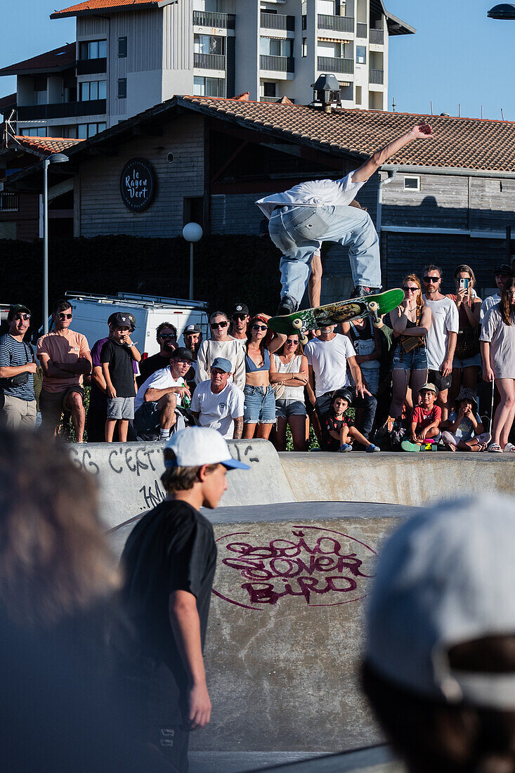
[{"label": "woman holding up a smartphone in front of her face", "polygon": [[462,386],[476,391],[481,354],[479,353],[479,314],[481,298],[474,285],[476,277],[470,266],[461,264],[454,272],[455,293],[448,295],[455,302],[459,314],[459,333],[452,361],[450,400],[453,402]]}]

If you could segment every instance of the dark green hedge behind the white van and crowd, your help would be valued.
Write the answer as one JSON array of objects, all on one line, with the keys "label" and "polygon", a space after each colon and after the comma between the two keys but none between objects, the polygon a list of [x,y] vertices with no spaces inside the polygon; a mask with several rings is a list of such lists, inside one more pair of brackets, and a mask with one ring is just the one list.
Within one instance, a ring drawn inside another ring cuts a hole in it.
[{"label": "dark green hedge behind the white van and crowd", "polygon": [[[43,243],[0,240],[2,303],[25,303],[37,325],[42,315]],[[195,245],[196,300],[229,309],[275,314],[280,294],[279,253],[268,237],[211,236]],[[187,298],[189,244],[138,237],[53,237],[49,242],[49,301],[67,290],[119,291]]]}]

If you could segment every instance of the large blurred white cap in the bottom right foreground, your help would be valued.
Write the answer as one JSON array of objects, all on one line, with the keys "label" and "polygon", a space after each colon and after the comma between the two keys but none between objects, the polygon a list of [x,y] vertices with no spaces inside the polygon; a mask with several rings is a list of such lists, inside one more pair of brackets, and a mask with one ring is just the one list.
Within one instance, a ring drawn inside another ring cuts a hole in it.
[{"label": "large blurred white cap in the bottom right foreground", "polygon": [[439,502],[397,529],[380,553],[367,610],[366,659],[411,692],[515,710],[515,673],[452,669],[454,645],[515,635],[515,499]]}]

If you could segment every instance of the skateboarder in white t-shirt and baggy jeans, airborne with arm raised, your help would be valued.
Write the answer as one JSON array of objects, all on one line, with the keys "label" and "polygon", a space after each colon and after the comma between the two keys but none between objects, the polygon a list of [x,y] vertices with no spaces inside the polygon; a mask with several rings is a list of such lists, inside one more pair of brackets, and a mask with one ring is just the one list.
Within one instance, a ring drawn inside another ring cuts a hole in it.
[{"label": "skateboarder in white t-shirt and baggy jeans, airborne with arm raised", "polygon": [[350,206],[358,190],[404,145],[431,139],[431,126],[419,124],[375,152],[359,169],[340,180],[312,180],[257,201],[268,217],[271,240],[282,252],[281,302],[277,314],[292,314],[302,301],[315,250],[323,241],[349,247],[350,268],[360,295],[379,291],[379,239],[370,215]]}]

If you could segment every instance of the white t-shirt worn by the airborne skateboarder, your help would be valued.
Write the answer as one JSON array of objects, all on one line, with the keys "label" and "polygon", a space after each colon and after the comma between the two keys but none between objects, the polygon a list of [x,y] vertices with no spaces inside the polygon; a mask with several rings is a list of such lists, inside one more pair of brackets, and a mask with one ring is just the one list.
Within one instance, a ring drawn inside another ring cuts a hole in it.
[{"label": "white t-shirt worn by the airborne skateboarder", "polygon": [[346,206],[356,197],[364,182],[353,182],[354,172],[341,180],[310,180],[293,186],[284,193],[272,193],[256,204],[270,220],[276,206]]}]

